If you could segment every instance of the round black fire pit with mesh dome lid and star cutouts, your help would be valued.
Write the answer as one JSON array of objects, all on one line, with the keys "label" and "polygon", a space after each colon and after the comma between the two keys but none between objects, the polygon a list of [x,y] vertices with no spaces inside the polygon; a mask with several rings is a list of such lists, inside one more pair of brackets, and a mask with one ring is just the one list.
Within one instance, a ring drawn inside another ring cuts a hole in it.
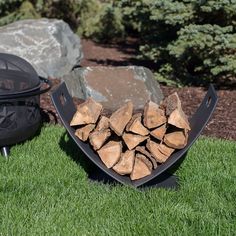
[{"label": "round black fire pit with mesh dome lid and star cutouts", "polygon": [[[46,88],[42,89],[42,84]],[[39,95],[51,87],[24,59],[0,53],[0,148],[4,156],[9,146],[24,141],[40,127]]]}]

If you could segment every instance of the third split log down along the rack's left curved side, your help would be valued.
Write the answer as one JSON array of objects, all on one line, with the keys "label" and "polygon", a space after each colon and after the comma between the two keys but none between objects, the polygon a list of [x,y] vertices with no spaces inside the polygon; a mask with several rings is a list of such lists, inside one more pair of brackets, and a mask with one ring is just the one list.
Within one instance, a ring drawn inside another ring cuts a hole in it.
[{"label": "third split log down along the rack's left curved side", "polygon": [[100,131],[94,131],[89,135],[89,141],[93,146],[94,150],[98,150],[106,142],[106,140],[111,136],[110,129],[103,129]]}]

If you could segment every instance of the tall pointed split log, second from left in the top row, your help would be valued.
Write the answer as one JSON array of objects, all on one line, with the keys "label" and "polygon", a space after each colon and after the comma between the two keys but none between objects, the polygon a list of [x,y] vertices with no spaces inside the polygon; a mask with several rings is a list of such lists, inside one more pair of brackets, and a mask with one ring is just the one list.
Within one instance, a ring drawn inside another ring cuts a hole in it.
[{"label": "tall pointed split log, second from left in the top row", "polygon": [[133,103],[127,102],[124,106],[112,113],[110,117],[110,128],[118,135],[122,136],[125,126],[128,124],[133,113]]}]

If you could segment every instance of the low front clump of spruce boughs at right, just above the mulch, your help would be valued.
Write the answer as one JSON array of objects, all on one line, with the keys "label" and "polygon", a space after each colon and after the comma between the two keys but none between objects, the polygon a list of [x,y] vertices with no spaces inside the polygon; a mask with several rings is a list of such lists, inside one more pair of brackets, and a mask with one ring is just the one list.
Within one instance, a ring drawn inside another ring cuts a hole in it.
[{"label": "low front clump of spruce boughs at right, just above the mulch", "polygon": [[202,76],[213,80],[236,74],[236,33],[233,26],[188,25],[168,46],[179,77]]}]

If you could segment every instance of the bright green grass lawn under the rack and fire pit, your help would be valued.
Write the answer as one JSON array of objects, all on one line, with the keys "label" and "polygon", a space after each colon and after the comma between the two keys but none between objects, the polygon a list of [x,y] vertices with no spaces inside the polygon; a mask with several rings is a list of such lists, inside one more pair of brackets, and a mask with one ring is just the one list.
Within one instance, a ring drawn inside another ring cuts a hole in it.
[{"label": "bright green grass lawn under the rack and fire pit", "polygon": [[90,182],[59,126],[0,157],[0,235],[235,235],[236,142],[200,138],[178,191]]}]

